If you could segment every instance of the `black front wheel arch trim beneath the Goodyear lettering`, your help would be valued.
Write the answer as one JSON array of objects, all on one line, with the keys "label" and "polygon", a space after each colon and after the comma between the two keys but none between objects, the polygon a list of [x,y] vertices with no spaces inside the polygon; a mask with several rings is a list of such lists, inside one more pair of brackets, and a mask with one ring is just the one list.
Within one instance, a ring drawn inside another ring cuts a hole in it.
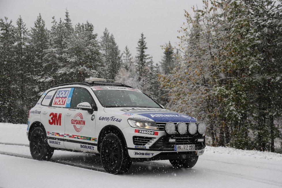
[{"label": "black front wheel arch trim beneath the Goodyear lettering", "polygon": [[115,126],[115,125],[107,125],[105,126],[99,133],[99,136],[98,136],[98,140],[97,140],[97,150],[100,152],[100,148],[101,148],[101,144],[102,144],[102,141],[103,139],[105,138],[105,136],[107,134],[110,134],[110,133],[115,133],[117,134],[123,141],[123,143],[125,144],[125,148],[127,148],[127,144],[126,144],[126,141],[125,141],[125,137],[121,131],[121,129],[119,129],[119,127]]}]

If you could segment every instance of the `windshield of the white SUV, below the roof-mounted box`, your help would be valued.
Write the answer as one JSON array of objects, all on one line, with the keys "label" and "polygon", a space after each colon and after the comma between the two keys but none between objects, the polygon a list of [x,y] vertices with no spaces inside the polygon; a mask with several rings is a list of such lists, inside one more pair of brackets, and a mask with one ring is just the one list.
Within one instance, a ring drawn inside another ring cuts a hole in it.
[{"label": "windshield of the white SUV, below the roof-mounted box", "polygon": [[127,89],[93,90],[99,102],[104,107],[147,107],[161,108],[155,101],[144,93]]}]

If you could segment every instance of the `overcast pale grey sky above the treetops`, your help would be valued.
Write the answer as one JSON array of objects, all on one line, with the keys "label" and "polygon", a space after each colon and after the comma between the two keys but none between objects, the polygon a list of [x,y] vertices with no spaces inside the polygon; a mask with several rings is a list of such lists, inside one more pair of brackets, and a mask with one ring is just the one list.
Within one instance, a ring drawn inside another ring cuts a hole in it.
[{"label": "overcast pale grey sky above the treetops", "polygon": [[202,7],[202,0],[0,0],[0,18],[12,19],[15,24],[21,15],[27,27],[33,27],[39,13],[51,29],[52,16],[56,20],[65,18],[69,11],[73,25],[87,20],[94,25],[94,32],[100,39],[107,27],[113,33],[119,49],[127,45],[132,55],[136,55],[138,39],[143,32],[146,37],[147,54],[155,63],[161,60],[161,45],[177,42],[177,30],[185,21],[184,10]]}]

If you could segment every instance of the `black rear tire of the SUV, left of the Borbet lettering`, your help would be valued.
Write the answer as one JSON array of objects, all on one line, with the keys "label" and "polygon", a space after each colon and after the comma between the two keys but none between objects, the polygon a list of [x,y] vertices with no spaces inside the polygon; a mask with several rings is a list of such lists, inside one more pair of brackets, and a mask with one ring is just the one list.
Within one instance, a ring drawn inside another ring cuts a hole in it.
[{"label": "black rear tire of the SUV, left of the Borbet lettering", "polygon": [[40,127],[36,127],[30,135],[29,150],[33,159],[39,161],[48,161],[53,153],[54,148],[51,148],[47,143],[47,138]]}]

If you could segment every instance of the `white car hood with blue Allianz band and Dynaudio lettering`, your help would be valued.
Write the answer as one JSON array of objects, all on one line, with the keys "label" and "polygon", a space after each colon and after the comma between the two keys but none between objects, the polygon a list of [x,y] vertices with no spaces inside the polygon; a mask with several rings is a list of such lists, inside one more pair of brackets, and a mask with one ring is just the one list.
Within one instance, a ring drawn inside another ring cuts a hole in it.
[{"label": "white car hood with blue Allianz band and Dynaudio lettering", "polygon": [[106,113],[127,116],[128,118],[144,119],[155,122],[196,122],[186,114],[173,112],[162,108],[104,108]]}]

